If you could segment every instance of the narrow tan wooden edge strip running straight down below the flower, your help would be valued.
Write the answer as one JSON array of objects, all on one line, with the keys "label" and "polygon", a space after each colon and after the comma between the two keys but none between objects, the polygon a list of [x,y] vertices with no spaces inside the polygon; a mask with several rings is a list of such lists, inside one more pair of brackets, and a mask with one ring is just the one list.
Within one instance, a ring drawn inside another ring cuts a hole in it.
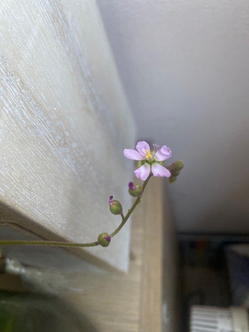
[{"label": "narrow tan wooden edge strip running straight down below the flower", "polygon": [[154,187],[149,188],[150,195],[145,197],[139,330],[144,332],[161,331],[162,328],[163,180],[153,178]]}]

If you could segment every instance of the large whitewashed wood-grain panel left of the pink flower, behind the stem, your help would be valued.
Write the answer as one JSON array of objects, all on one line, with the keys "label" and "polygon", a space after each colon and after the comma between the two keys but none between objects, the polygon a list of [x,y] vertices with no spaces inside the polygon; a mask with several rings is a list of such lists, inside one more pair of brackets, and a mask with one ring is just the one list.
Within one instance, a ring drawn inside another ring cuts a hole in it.
[{"label": "large whitewashed wood-grain panel left of the pink flower, behind the stem", "polygon": [[[0,201],[38,235],[95,241],[120,221],[108,197],[130,205],[122,151],[134,143],[98,8],[8,0],[0,16]],[[125,271],[128,247],[129,223],[112,246],[89,251]]]}]

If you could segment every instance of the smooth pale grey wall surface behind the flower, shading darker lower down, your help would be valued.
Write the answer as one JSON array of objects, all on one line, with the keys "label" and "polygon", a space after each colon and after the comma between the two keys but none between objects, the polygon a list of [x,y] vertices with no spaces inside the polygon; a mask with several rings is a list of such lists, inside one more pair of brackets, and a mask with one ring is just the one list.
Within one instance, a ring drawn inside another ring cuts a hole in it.
[{"label": "smooth pale grey wall surface behind the flower, shading darker lower down", "polygon": [[185,163],[178,230],[248,233],[248,0],[97,2],[138,138]]}]

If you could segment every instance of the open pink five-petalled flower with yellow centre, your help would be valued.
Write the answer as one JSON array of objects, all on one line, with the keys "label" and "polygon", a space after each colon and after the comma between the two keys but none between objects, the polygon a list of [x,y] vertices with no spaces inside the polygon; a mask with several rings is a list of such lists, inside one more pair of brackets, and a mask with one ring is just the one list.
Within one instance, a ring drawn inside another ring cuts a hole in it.
[{"label": "open pink five-petalled flower with yellow centre", "polygon": [[150,174],[150,171],[154,176],[166,176],[169,178],[171,176],[170,171],[160,165],[160,161],[164,161],[171,157],[172,153],[169,147],[166,145],[158,149],[157,144],[153,144],[154,150],[150,152],[149,144],[141,141],[136,145],[136,150],[124,149],[124,156],[132,160],[145,160],[145,163],[137,168],[134,173],[138,179],[142,181],[146,180]]}]

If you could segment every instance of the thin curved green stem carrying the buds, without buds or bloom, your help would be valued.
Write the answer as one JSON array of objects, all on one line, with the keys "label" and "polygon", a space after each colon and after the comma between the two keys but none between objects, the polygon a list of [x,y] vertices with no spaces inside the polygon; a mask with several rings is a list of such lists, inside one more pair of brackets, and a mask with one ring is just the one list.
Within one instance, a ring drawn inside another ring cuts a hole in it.
[{"label": "thin curved green stem carrying the buds, without buds or bloom", "polygon": [[[148,178],[144,181],[142,186],[142,193],[151,178],[152,173],[148,176]],[[137,206],[137,204],[140,203],[140,197],[138,197],[132,207],[128,210],[127,214],[124,216],[123,213],[121,213],[122,222],[119,225],[117,229],[110,235],[113,237],[116,235],[121,228],[124,226],[125,222],[128,220],[129,216],[131,215],[134,208]],[[89,242],[89,243],[74,243],[74,242],[60,242],[60,241],[26,241],[26,240],[3,240],[0,241],[0,246],[4,245],[27,245],[27,246],[50,246],[50,247],[95,247],[99,245],[98,241],[95,242]]]}]

